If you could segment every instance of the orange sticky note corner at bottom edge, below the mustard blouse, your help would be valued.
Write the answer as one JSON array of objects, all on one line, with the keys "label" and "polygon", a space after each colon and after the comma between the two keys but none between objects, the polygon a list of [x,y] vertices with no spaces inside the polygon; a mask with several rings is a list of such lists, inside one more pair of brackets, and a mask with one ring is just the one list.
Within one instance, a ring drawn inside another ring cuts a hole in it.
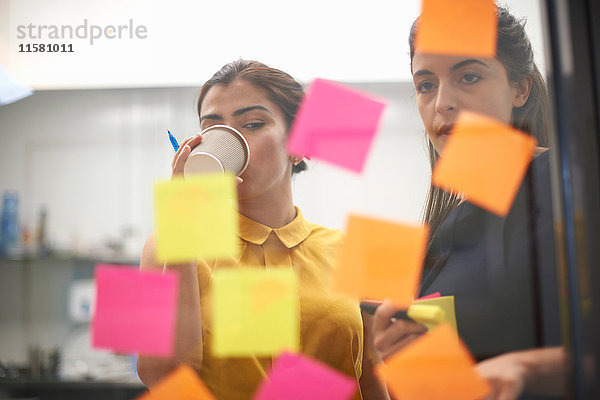
[{"label": "orange sticky note corner at bottom edge, below the mustard blouse", "polygon": [[183,364],[137,400],[215,400],[189,365]]}]

